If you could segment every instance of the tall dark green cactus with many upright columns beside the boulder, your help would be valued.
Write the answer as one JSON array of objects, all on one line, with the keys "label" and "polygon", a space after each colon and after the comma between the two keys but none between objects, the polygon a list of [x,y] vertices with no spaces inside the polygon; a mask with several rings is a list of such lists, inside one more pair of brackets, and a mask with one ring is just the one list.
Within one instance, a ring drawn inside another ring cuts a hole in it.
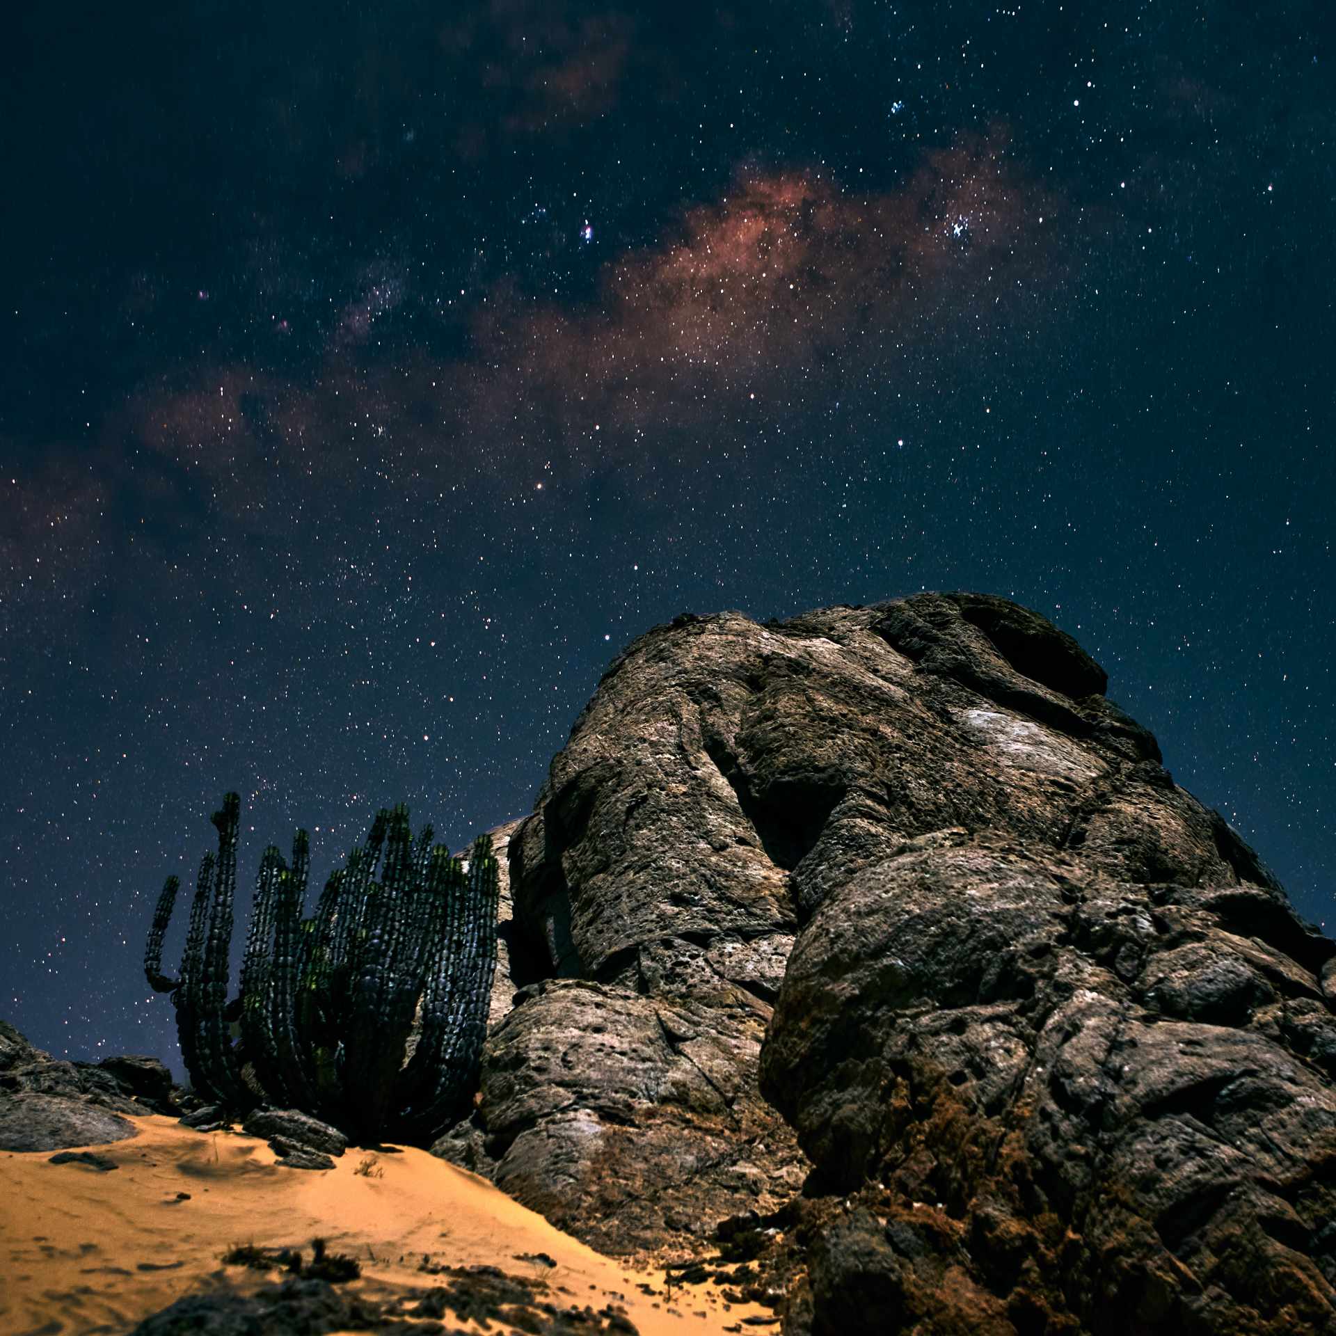
[{"label": "tall dark green cactus with many upright columns beside the boulder", "polygon": [[218,854],[200,864],[179,978],[162,973],[176,878],[163,886],[144,949],[150,985],[176,1005],[196,1090],[238,1110],[261,1100],[306,1109],[362,1141],[432,1137],[466,1102],[486,1034],[497,914],[490,839],[476,840],[466,860],[452,858],[430,827],[414,842],[406,807],[383,810],[309,918],[306,832],[297,832],[291,864],[271,844],[228,1003],[239,816],[228,794],[214,815]]}]

